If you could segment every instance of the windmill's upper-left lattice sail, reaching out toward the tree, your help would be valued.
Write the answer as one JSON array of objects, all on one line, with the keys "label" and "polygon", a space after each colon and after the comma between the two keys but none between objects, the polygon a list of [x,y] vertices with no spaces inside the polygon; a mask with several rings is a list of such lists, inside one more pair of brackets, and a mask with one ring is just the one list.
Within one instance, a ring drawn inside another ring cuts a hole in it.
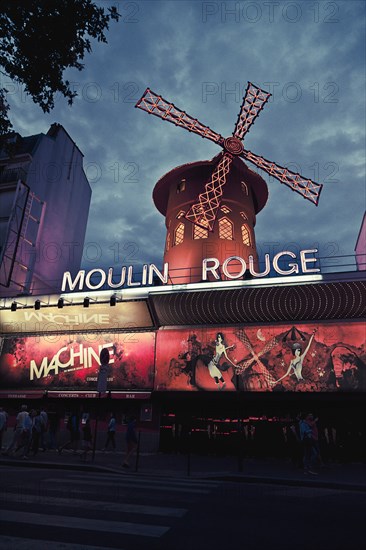
[{"label": "windmill's upper-left lattice sail, reaching out toward the tree", "polygon": [[160,95],[155,94],[150,88],[145,90],[143,96],[138,100],[135,107],[142,109],[151,115],[158,116],[163,120],[172,122],[175,126],[181,126],[189,132],[194,132],[201,137],[210,139],[215,143],[223,143],[224,138],[211,130],[208,126],[201,124],[196,118],[192,118],[184,111],[181,111],[173,103],[169,103]]}]

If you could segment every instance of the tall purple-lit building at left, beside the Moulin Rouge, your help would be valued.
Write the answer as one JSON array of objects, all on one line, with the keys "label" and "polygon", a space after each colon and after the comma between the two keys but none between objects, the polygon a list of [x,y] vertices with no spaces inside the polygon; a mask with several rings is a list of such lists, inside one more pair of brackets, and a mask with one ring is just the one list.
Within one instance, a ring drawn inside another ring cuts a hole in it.
[{"label": "tall purple-lit building at left, beside the Moulin Rouge", "polygon": [[91,188],[83,154],[60,124],[0,144],[0,296],[58,292],[77,271]]}]

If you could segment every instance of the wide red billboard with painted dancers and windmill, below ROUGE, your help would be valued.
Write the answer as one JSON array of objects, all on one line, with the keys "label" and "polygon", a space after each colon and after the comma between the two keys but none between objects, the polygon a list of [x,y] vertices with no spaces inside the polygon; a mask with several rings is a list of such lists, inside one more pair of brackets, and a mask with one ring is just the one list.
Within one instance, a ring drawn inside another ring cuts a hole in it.
[{"label": "wide red billboard with painted dancers and windmill, below ROUGE", "polygon": [[365,391],[365,325],[165,329],[156,364],[160,391]]}]

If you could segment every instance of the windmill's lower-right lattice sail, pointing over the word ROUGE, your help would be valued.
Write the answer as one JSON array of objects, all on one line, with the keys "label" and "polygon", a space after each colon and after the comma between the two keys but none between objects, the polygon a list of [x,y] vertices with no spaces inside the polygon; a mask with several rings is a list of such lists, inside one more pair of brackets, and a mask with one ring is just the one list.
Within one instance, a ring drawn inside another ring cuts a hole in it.
[{"label": "windmill's lower-right lattice sail, pointing over the word ROUGE", "polygon": [[296,191],[296,193],[299,193],[305,199],[308,199],[316,206],[318,206],[320,192],[323,187],[321,183],[316,183],[313,180],[303,178],[300,174],[291,172],[291,170],[283,168],[282,166],[278,166],[274,162],[270,162],[263,157],[258,157],[257,155],[255,155],[251,151],[247,151],[246,149],[244,149],[240,156],[245,158],[246,160],[249,160],[256,166],[258,166],[258,168],[261,168],[262,170],[267,172],[267,174],[273,176],[278,181],[284,183],[293,191]]}]

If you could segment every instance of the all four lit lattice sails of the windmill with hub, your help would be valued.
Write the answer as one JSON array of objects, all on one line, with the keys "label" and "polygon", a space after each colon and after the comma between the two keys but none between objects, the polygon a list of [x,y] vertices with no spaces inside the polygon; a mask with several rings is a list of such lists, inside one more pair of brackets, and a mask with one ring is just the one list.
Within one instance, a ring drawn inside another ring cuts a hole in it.
[{"label": "all four lit lattice sails of the windmill with hub", "polygon": [[185,111],[178,109],[173,103],[169,103],[160,95],[155,94],[149,88],[146,89],[141,99],[136,103],[135,107],[158,116],[163,120],[172,122],[176,126],[185,128],[189,132],[194,132],[203,138],[207,138],[220,145],[224,150],[211,178],[205,184],[204,191],[198,195],[197,200],[185,215],[192,223],[210,231],[213,230],[220,208],[223,187],[226,184],[232,161],[236,156],[250,161],[258,168],[267,172],[267,174],[290,187],[296,193],[302,195],[305,199],[316,206],[318,205],[320,192],[323,187],[322,184],[304,178],[300,174],[291,172],[287,168],[283,168],[244,149],[242,140],[249,132],[249,129],[270,96],[270,93],[248,82],[233,135],[226,139],[221,134],[199,122],[196,118],[187,115]]}]

